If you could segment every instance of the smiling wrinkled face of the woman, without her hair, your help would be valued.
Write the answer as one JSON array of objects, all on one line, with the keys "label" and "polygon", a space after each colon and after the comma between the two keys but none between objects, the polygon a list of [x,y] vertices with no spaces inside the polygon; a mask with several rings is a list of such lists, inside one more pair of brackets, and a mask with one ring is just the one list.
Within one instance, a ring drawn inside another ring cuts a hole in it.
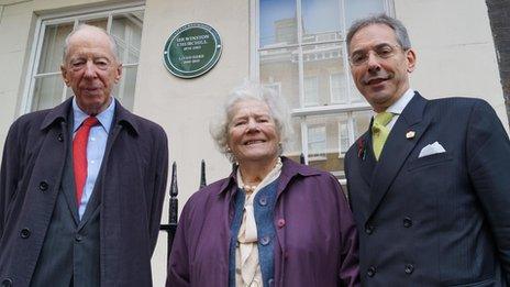
[{"label": "smiling wrinkled face of the woman, without her hair", "polygon": [[274,161],[278,156],[279,135],[269,107],[258,100],[241,100],[232,109],[228,145],[235,159]]}]

